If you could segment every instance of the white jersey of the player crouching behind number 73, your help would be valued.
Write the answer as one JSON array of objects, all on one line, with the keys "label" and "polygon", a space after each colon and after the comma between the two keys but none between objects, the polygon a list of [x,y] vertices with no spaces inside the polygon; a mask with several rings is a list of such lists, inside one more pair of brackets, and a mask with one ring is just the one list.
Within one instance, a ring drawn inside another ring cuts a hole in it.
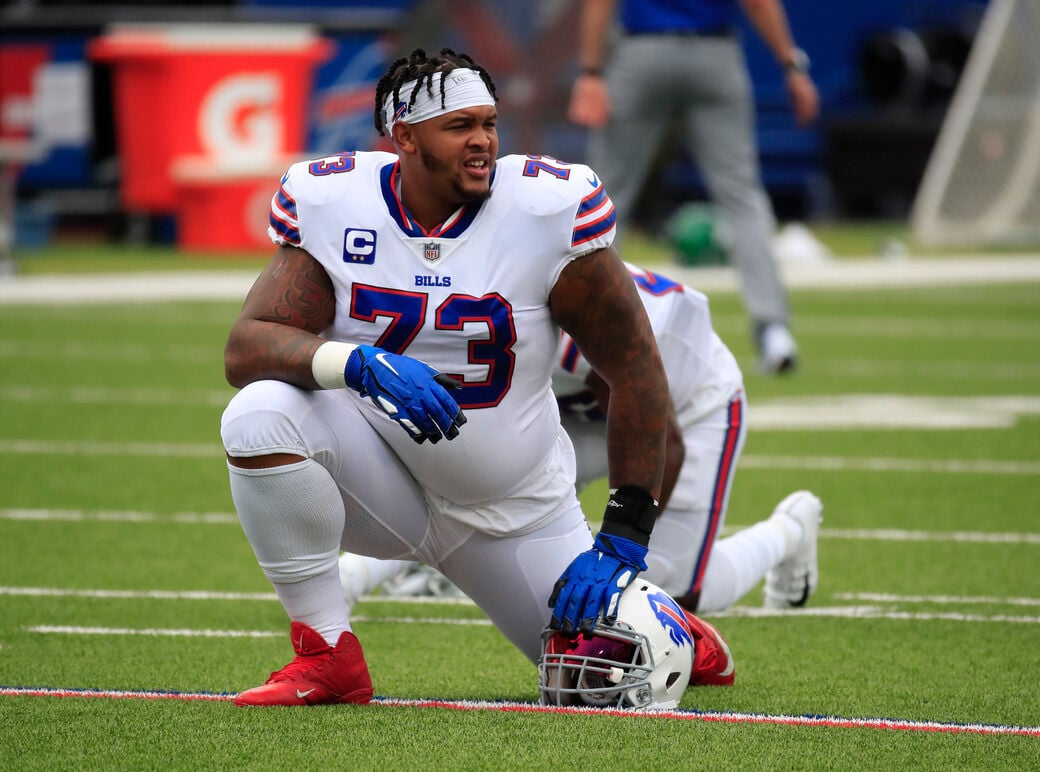
[{"label": "white jersey of the player crouching behind number 73", "polygon": [[[688,426],[725,405],[743,386],[740,367],[712,329],[708,299],[703,292],[626,265],[650,317],[677,417],[680,424]],[[563,397],[565,407],[572,405],[587,417],[602,417],[590,412],[586,378],[591,369],[571,337],[563,333],[552,374],[553,391]]]}]

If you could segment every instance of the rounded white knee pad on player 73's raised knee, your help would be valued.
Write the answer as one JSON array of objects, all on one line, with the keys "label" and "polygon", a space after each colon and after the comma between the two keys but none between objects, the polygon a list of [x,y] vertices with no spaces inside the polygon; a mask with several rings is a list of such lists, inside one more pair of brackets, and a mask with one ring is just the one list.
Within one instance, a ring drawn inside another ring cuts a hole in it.
[{"label": "rounded white knee pad on player 73's raised knee", "polygon": [[314,392],[282,381],[257,381],[241,389],[220,416],[220,439],[229,456],[287,453],[312,456],[302,427]]}]

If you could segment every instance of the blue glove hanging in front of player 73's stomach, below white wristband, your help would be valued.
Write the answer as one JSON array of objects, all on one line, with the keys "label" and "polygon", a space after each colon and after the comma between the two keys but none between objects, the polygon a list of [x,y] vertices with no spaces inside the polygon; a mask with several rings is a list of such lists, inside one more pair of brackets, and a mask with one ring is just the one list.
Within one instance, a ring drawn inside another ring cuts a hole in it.
[{"label": "blue glove hanging in front of player 73's stomach, below white wristband", "polygon": [[359,345],[346,359],[346,385],[368,396],[416,442],[454,439],[466,416],[447,389],[462,385],[425,362]]}]

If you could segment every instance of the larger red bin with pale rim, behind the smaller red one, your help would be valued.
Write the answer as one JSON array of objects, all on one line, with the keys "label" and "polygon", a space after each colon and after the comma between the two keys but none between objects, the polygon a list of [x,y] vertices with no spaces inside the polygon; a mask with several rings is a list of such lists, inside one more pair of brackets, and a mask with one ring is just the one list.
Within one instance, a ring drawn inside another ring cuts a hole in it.
[{"label": "larger red bin with pale rim, behind the smaller red one", "polygon": [[178,158],[267,170],[302,154],[313,71],[332,47],[302,25],[113,26],[89,55],[112,66],[124,207],[177,211]]}]

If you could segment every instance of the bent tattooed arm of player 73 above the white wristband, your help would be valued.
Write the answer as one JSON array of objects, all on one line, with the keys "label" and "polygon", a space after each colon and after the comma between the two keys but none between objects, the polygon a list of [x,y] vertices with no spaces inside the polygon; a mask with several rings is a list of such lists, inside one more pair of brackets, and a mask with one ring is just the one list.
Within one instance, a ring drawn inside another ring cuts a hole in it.
[{"label": "bent tattooed arm of player 73 above the white wristband", "polygon": [[228,383],[274,379],[319,388],[311,372],[336,311],[332,280],[305,250],[280,247],[245,297],[224,350]]}]

